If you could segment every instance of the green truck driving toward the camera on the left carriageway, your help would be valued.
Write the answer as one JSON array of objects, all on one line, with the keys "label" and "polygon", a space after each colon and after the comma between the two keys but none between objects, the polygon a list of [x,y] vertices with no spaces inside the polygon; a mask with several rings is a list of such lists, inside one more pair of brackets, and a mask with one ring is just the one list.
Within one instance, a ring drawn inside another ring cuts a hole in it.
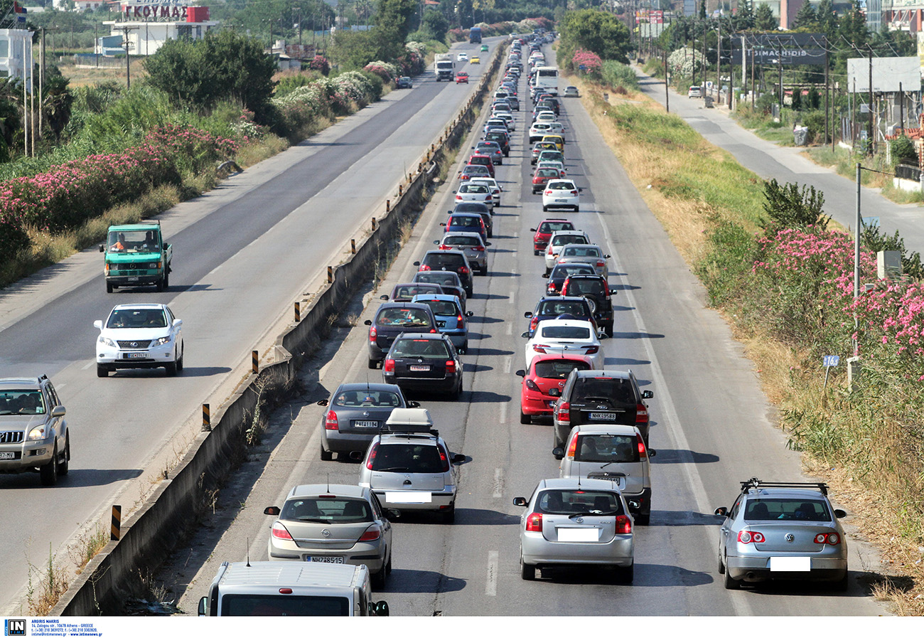
[{"label": "green truck driving toward the camera on the left carriageway", "polygon": [[111,226],[100,252],[106,292],[120,286],[154,286],[160,292],[170,285],[173,246],[164,243],[160,222]]}]

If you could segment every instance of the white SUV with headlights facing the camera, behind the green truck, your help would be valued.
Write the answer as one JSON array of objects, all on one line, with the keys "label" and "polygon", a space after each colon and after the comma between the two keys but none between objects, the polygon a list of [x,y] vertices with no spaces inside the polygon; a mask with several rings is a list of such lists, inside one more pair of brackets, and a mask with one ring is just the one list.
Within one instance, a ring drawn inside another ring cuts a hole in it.
[{"label": "white SUV with headlights facing the camera, behind the green truck", "polygon": [[183,370],[183,320],[164,303],[125,303],[113,308],[105,322],[93,327],[96,375],[121,368],[164,368],[167,376]]}]

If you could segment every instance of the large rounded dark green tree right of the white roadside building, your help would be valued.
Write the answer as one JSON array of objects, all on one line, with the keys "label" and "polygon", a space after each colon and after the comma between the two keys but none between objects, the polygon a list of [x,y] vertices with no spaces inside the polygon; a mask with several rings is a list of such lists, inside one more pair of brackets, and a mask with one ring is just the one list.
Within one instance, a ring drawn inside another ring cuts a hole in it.
[{"label": "large rounded dark green tree right of the white roadside building", "polygon": [[269,121],[276,65],[257,40],[235,31],[208,33],[203,40],[168,40],[144,63],[148,81],[175,104],[202,111],[231,100]]}]

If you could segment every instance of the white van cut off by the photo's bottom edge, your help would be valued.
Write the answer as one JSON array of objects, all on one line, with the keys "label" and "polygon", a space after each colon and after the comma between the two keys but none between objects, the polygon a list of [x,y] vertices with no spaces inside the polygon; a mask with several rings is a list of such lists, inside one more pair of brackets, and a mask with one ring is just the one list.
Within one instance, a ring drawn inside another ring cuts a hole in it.
[{"label": "white van cut off by the photo's bottom edge", "polygon": [[365,565],[225,561],[199,615],[388,616],[388,603],[371,595]]}]

